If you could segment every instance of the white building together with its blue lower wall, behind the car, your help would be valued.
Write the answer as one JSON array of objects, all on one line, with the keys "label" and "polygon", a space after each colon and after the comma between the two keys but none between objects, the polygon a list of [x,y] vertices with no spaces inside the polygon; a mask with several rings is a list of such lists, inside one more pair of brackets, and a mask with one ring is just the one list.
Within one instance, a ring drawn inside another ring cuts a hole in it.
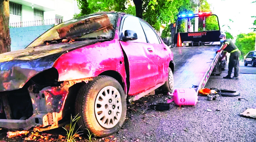
[{"label": "white building together with its blue lower wall, behind the car", "polygon": [[23,49],[52,26],[80,13],[76,0],[10,0],[11,51]]}]

